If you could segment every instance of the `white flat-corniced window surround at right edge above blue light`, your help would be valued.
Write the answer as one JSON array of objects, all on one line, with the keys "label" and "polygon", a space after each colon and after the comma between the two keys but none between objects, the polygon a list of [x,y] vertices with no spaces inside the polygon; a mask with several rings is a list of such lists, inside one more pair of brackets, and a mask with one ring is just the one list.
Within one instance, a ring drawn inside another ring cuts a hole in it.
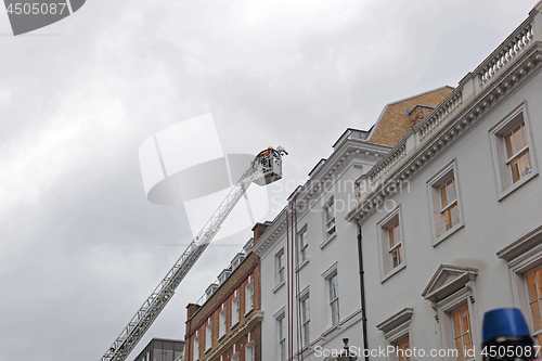
[{"label": "white flat-corniced window surround at right edge above blue light", "polygon": [[[526,275],[542,267],[542,225],[499,250],[496,256],[508,263],[513,306],[519,308],[526,315],[527,324],[532,332],[534,324],[529,307]],[[535,335],[535,333],[532,334],[533,337]]]}]

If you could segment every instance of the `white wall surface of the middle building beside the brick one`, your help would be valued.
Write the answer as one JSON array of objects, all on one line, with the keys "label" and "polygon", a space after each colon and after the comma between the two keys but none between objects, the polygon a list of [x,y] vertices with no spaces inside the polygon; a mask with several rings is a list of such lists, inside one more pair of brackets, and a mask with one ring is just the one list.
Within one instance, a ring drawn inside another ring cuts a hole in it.
[{"label": "white wall surface of the middle building beside the brick one", "polygon": [[[349,157],[335,170],[333,179],[336,180],[333,189],[320,192],[311,197],[313,207],[309,211],[298,212],[297,228],[300,231],[308,227],[308,243],[310,260],[299,271],[299,289],[302,292],[307,286],[310,293],[310,341],[311,347],[304,353],[305,360],[324,360],[314,353],[318,346],[324,349],[341,349],[344,337],[351,339],[350,345],[361,346],[361,304],[360,304],[360,279],[359,259],[357,244],[357,224],[345,220],[349,209],[354,206],[353,181],[373,166],[388,147],[369,144],[362,141],[347,141],[335,150],[328,163],[340,159],[347,147],[360,151],[350,151]],[[377,152],[375,152],[375,150]],[[365,154],[365,152],[369,154]],[[378,156],[375,156],[378,153]],[[354,166],[357,164],[357,166]],[[362,167],[360,167],[362,166]],[[312,180],[322,179],[321,172],[313,175]],[[348,186],[345,186],[345,181]],[[330,183],[331,184],[331,183]],[[336,207],[336,232],[337,236],[321,248],[324,241],[324,217],[322,205],[334,196]],[[344,205],[344,206],[343,206]],[[274,221],[279,224],[284,220],[284,215]],[[257,244],[267,242],[274,233],[273,225],[258,240]],[[281,229],[276,238],[263,249],[257,250],[261,258],[261,300],[266,315],[262,321],[262,361],[280,360],[280,347],[278,340],[276,320],[273,317],[282,308],[287,309],[286,286],[273,292],[275,287],[275,255],[281,248],[286,247],[285,228]],[[256,247],[258,249],[258,246]],[[337,262],[340,322],[339,327],[332,327],[331,308],[328,304],[328,288],[322,273]],[[297,306],[298,304],[295,302]],[[294,352],[299,347],[297,343],[297,314],[294,314]],[[287,314],[286,314],[287,318]],[[350,321],[348,321],[350,320]],[[324,333],[328,333],[323,337]]]}]

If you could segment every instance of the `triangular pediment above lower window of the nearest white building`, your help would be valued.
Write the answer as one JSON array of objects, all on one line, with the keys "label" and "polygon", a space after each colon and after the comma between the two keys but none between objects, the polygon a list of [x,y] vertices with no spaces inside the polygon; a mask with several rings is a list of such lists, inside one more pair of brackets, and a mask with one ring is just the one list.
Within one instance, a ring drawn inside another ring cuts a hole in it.
[{"label": "triangular pediment above lower window of the nearest white building", "polygon": [[[422,297],[437,304],[462,287],[473,288],[477,275],[478,270],[475,268],[440,265],[422,293]],[[474,296],[470,297],[470,301],[474,302]]]}]

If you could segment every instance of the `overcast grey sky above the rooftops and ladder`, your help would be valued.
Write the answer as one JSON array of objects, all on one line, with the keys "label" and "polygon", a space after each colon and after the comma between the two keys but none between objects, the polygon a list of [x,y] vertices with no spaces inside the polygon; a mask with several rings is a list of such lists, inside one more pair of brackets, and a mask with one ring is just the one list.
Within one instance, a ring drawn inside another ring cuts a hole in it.
[{"label": "overcast grey sky above the rooftops and ladder", "polygon": [[[281,144],[304,183],[346,128],[455,87],[535,2],[88,0],[20,37],[2,8],[0,361],[99,360],[192,240],[182,206],[145,197],[154,133],[212,113],[224,153]],[[130,360],[183,338],[249,236],[207,249]]]}]

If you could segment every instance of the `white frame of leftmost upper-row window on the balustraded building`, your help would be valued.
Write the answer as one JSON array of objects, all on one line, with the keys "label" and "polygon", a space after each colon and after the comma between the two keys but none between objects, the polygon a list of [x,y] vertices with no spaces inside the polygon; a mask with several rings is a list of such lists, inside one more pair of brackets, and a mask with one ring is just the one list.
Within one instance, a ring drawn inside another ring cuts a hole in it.
[{"label": "white frame of leftmost upper-row window on the balustraded building", "polygon": [[[392,260],[390,258],[391,248],[389,247],[389,229],[399,223],[399,234],[401,241],[393,246],[401,245],[401,263],[397,267],[393,267]],[[401,217],[401,206],[398,206],[393,210],[391,210],[386,217],[384,217],[377,224],[377,237],[379,245],[379,260],[380,260],[380,282],[385,282],[390,276],[401,271],[406,267],[406,255],[405,255],[405,245],[404,245],[404,233],[402,227],[402,217]]]}]

